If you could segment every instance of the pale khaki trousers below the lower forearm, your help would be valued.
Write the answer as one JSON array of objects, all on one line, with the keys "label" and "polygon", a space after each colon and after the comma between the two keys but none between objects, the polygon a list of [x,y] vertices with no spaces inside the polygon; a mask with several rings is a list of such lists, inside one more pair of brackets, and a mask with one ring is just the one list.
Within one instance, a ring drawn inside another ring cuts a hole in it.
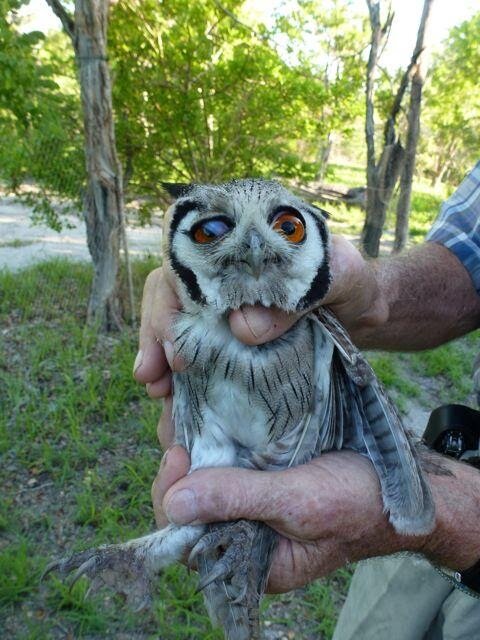
[{"label": "pale khaki trousers below the lower forearm", "polygon": [[480,600],[415,556],[360,563],[333,640],[480,640]]}]

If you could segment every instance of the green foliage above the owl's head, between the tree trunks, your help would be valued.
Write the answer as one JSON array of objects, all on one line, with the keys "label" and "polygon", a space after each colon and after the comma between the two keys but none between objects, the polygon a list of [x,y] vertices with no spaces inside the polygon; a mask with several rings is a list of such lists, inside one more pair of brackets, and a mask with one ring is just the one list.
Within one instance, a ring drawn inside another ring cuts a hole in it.
[{"label": "green foliage above the owl's head, between the tree trunks", "polygon": [[[321,61],[302,52],[296,14],[267,30],[247,26],[244,4],[114,6],[109,50],[117,140],[136,193],[157,195],[165,180],[308,179],[318,168],[319,142],[332,130],[348,130],[360,76],[352,75],[359,52],[347,4],[335,2],[338,34]],[[308,3],[314,4],[331,3]],[[318,20],[326,15],[325,9]],[[322,29],[319,22],[312,37]],[[350,57],[341,62],[343,54]]]}]

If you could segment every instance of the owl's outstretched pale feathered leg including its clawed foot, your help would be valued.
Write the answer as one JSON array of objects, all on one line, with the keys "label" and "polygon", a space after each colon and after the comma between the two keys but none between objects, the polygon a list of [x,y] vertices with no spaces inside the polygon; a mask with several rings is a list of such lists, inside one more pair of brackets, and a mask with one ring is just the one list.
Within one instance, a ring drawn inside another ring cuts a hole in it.
[{"label": "owl's outstretched pale feathered leg including its clawed foot", "polygon": [[108,585],[126,596],[136,611],[147,607],[152,599],[152,582],[161,569],[182,560],[198,541],[204,527],[170,525],[143,538],[123,544],[104,545],[55,560],[45,569],[63,575],[73,573],[71,586],[87,576],[88,593]]}]

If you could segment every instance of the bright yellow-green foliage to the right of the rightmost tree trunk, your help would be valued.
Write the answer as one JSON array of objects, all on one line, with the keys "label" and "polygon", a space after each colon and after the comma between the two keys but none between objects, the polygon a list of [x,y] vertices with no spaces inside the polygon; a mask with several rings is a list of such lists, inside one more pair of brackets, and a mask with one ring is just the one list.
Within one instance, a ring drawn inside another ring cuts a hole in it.
[{"label": "bright yellow-green foliage to the right of the rightmost tree trunk", "polygon": [[454,27],[425,93],[422,167],[432,181],[458,183],[478,159],[480,12]]}]

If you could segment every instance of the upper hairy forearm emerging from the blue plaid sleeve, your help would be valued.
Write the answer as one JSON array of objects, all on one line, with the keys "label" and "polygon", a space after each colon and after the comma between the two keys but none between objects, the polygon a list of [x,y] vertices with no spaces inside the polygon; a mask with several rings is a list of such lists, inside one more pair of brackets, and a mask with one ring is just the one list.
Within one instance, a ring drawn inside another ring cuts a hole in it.
[{"label": "upper hairy forearm emerging from the blue plaid sleeve", "polygon": [[425,243],[408,254],[367,262],[363,309],[347,324],[363,348],[427,349],[480,325],[480,296],[445,247]]}]

